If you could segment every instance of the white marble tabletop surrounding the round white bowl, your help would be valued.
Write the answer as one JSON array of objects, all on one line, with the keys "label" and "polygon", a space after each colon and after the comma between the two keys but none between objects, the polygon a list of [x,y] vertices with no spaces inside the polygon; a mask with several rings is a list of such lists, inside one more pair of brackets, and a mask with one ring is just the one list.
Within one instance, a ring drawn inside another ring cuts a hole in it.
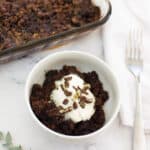
[{"label": "white marble tabletop surrounding the round white bowl", "polygon": [[[100,31],[55,49],[83,50],[102,56]],[[55,51],[44,51],[26,58],[0,65],[0,130],[10,131],[14,143],[21,144],[24,150],[84,150],[86,143],[70,143],[55,139],[41,129],[30,116],[25,99],[24,85],[32,67],[43,57]],[[98,150],[131,150],[132,129],[119,123],[119,117],[109,130],[95,140]],[[150,136],[147,135],[148,149]]]}]

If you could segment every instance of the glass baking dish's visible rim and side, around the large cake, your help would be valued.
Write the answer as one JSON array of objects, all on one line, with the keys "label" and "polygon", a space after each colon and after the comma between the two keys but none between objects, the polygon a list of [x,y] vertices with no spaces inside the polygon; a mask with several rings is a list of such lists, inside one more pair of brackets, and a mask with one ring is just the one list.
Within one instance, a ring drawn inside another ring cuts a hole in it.
[{"label": "glass baking dish's visible rim and side, around the large cake", "polygon": [[30,41],[24,45],[0,51],[0,64],[21,58],[33,52],[50,49],[60,46],[64,43],[68,43],[70,40],[77,38],[83,33],[92,31],[105,24],[111,15],[111,3],[109,0],[99,0],[99,3],[100,5],[98,7],[100,7],[101,10],[101,18],[98,21],[83,25],[81,27],[73,28],[71,30],[67,30],[54,36]]}]

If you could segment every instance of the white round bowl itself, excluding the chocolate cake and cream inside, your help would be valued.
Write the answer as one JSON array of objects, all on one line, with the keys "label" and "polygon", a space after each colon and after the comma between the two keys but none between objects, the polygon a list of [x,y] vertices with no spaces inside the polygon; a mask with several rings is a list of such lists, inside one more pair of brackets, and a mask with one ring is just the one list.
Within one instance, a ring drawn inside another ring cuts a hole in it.
[{"label": "white round bowl itself, excluding the chocolate cake and cream inside", "polygon": [[[34,83],[42,84],[45,79],[45,72],[51,69],[61,69],[63,65],[74,65],[81,72],[88,71],[96,71],[99,75],[100,80],[103,83],[104,89],[109,93],[109,100],[104,105],[106,122],[102,128],[99,130],[82,136],[70,136],[64,135],[58,132],[55,132],[49,128],[47,128],[44,124],[42,124],[38,118],[35,116],[32,111],[30,105],[30,93]],[[113,120],[116,118],[117,113],[120,107],[120,99],[119,99],[119,88],[116,80],[116,76],[109,68],[107,64],[105,64],[98,57],[93,56],[88,53],[76,52],[76,51],[63,51],[51,54],[38,62],[35,67],[30,72],[26,86],[25,86],[25,99],[29,108],[29,111],[34,118],[34,120],[39,124],[40,127],[45,129],[47,132],[52,135],[64,138],[64,139],[87,139],[93,138],[97,134],[102,133],[104,130],[112,124]]]}]

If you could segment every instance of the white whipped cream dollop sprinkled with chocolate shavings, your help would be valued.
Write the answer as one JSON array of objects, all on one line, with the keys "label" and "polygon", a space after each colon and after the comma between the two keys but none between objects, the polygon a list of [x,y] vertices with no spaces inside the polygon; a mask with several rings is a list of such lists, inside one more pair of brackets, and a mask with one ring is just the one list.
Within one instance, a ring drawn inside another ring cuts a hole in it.
[{"label": "white whipped cream dollop sprinkled with chocolate shavings", "polygon": [[95,97],[90,85],[76,74],[55,81],[50,99],[60,108],[60,113],[64,113],[66,120],[71,119],[75,123],[89,120],[95,112]]}]

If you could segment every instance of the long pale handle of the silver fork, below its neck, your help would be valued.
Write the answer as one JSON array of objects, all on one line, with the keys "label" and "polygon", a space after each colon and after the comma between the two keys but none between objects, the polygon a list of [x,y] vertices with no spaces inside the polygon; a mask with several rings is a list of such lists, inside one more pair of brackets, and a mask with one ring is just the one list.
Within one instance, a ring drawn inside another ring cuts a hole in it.
[{"label": "long pale handle of the silver fork, below its neck", "polygon": [[146,150],[144,124],[142,116],[142,97],[140,76],[136,78],[136,110],[134,120],[133,150]]}]

